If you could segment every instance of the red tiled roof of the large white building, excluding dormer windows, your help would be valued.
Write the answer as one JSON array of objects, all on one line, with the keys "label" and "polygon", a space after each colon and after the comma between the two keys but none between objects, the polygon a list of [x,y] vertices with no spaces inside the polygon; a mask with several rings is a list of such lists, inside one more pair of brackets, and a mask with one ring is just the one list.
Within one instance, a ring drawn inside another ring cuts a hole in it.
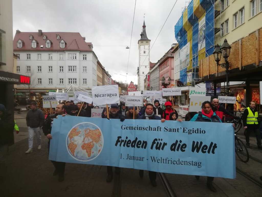
[{"label": "red tiled roof of the large white building, excluding dormer windows", "polygon": [[[38,41],[36,48],[32,48],[32,40],[29,39],[30,35]],[[45,40],[43,39],[44,35],[47,37]],[[60,36],[59,40],[57,40],[57,35]],[[24,42],[22,48],[17,47],[19,39]],[[46,48],[46,40],[52,40],[50,48]],[[65,48],[60,48],[61,40],[64,40],[66,43]],[[41,45],[43,45],[43,48],[40,48]],[[14,51],[92,51],[78,32],[42,32],[41,36],[39,36],[38,32],[20,32],[15,34],[13,46]]]}]

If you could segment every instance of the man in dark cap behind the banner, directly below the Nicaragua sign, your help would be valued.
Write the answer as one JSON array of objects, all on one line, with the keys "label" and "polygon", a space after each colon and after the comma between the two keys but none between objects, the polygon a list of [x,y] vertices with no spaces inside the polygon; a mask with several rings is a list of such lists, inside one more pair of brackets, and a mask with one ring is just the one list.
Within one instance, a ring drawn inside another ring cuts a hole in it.
[{"label": "man in dark cap behind the banner, directly below the Nicaragua sign", "polygon": [[[118,105],[117,104],[112,104],[111,108],[110,108],[110,113],[109,113],[109,119],[120,119],[121,122],[123,122],[125,120],[125,117],[122,114],[118,113]],[[107,118],[107,114],[105,112],[104,114],[104,118]],[[119,167],[115,167],[116,174],[120,173],[120,168]],[[107,178],[106,178],[106,182],[111,182],[113,179],[113,168],[112,166],[107,166]]]}]

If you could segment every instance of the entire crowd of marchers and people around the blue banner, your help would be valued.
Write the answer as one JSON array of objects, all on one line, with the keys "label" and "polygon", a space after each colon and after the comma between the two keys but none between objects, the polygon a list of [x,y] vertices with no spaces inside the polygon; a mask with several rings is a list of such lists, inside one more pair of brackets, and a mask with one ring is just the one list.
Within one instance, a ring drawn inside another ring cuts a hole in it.
[{"label": "entire crowd of marchers and people around the blue banner", "polygon": [[[246,143],[249,147],[249,136],[250,133],[254,132],[256,134],[257,146],[261,146],[261,135],[262,124],[259,126],[258,123],[258,112],[255,109],[256,103],[254,101],[250,102],[249,107],[244,111],[242,120],[244,128],[247,129],[246,132]],[[178,119],[178,113],[172,107],[170,101],[165,102],[163,108],[161,107],[158,100],[155,100],[153,104],[147,103],[144,101],[143,107],[127,107],[124,102],[118,104],[111,104],[111,107],[108,110],[104,108],[102,112],[102,118],[109,119],[119,119],[124,121],[125,119],[143,119],[143,120],[159,120],[162,123],[165,121],[179,121],[182,122],[182,119]],[[45,134],[48,138],[48,153],[50,148],[50,140],[52,140],[52,124],[54,118],[57,118],[58,115],[66,116],[81,116],[81,117],[91,117],[92,108],[99,108],[99,106],[93,106],[91,103],[77,103],[74,101],[61,102],[53,109],[53,114],[44,115],[42,110],[37,108],[36,102],[30,103],[30,110],[26,115],[26,124],[28,126],[28,145],[29,148],[25,153],[31,153],[33,151],[33,138],[34,134],[37,138],[37,149],[41,149],[41,132]],[[225,115],[231,116],[235,119],[240,119],[238,116],[235,116],[228,112],[222,105],[219,104],[219,100],[214,98],[212,102],[205,101],[201,106],[202,110],[200,112],[188,112],[185,116],[185,121],[199,121],[199,122],[223,122],[223,117]],[[13,130],[15,127],[14,119],[10,112],[5,108],[4,105],[0,104],[0,172],[5,170],[5,159],[8,152],[8,146],[14,144],[14,134]],[[234,125],[233,125],[234,126]],[[260,128],[260,129],[259,129]],[[54,165],[53,176],[58,175],[58,181],[64,181],[64,171],[65,163],[51,161]],[[121,168],[115,167],[115,174],[119,174]],[[2,174],[0,174],[1,177]],[[139,177],[143,178],[144,171],[139,170]],[[198,180],[200,177],[195,176]],[[262,178],[262,177],[261,177]],[[113,179],[113,168],[112,166],[107,166],[107,177],[106,181],[111,182]],[[149,179],[152,186],[157,186],[156,183],[156,172],[149,171]],[[212,184],[214,177],[207,178],[208,188],[216,192],[216,188]]]}]

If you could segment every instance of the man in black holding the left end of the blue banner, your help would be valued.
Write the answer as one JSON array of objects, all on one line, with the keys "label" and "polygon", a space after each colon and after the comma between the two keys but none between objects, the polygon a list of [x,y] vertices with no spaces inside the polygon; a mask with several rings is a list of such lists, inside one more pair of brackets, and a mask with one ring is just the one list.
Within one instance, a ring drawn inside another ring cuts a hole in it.
[{"label": "man in black holding the left end of the blue banner", "polygon": [[[52,139],[51,135],[51,130],[52,130],[52,125],[53,125],[53,120],[54,118],[57,118],[58,115],[63,115],[65,114],[65,106],[63,104],[58,104],[56,107],[56,113],[49,115],[46,118],[46,121],[43,125],[43,132],[48,141],[48,154],[49,154],[49,148],[50,148],[50,140]],[[51,161],[54,165],[54,173],[53,176],[56,176],[58,174],[58,181],[62,182],[64,180],[64,172],[65,172],[65,163],[64,162],[56,162],[56,161]]]}]

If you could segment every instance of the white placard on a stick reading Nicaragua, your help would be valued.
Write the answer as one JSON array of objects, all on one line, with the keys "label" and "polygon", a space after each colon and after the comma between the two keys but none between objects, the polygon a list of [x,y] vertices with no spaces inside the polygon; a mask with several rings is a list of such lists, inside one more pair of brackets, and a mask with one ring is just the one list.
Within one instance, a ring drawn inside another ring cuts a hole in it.
[{"label": "white placard on a stick reading Nicaragua", "polygon": [[118,85],[92,87],[93,105],[119,103]]}]

